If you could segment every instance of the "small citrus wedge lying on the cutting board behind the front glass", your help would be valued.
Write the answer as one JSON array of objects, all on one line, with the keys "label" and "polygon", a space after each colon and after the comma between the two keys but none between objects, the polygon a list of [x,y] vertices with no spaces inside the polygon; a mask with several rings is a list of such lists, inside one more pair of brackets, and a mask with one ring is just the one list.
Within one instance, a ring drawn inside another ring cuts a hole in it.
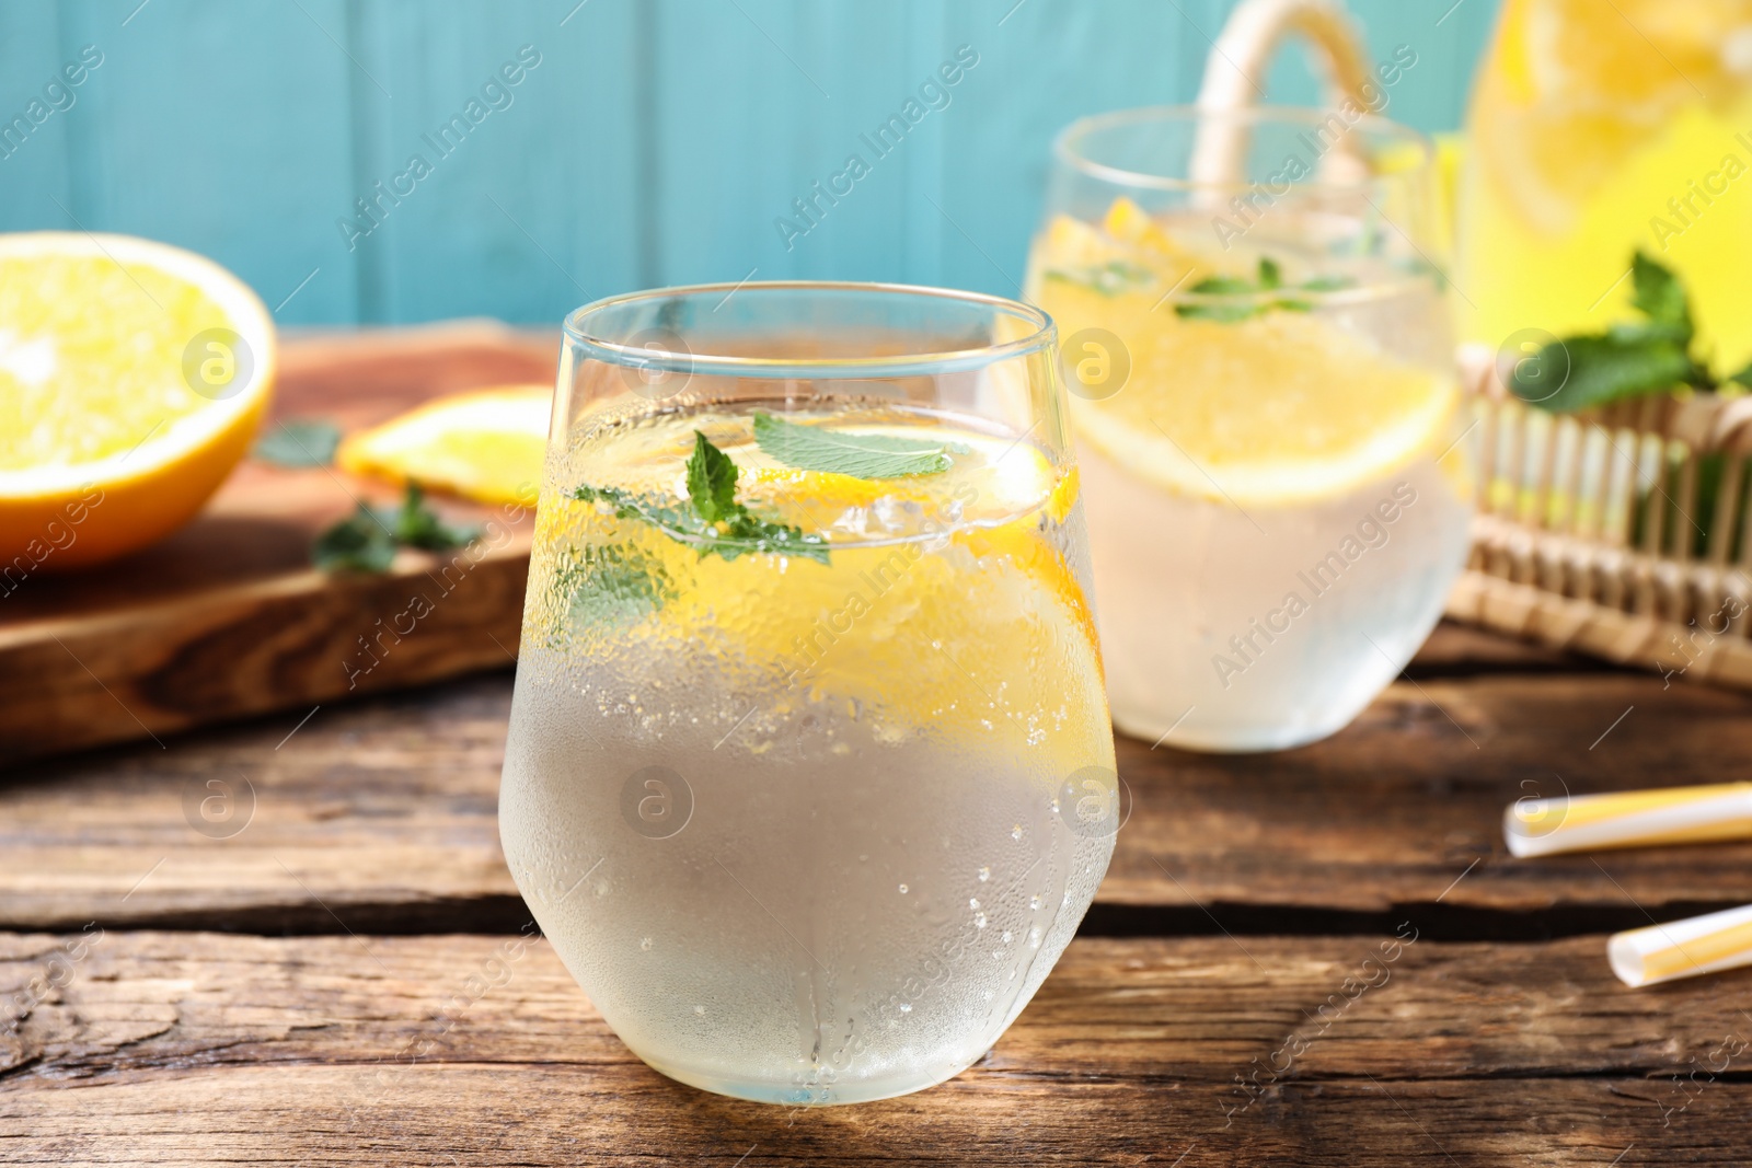
[{"label": "small citrus wedge lying on the cutting board behind the front glass", "polygon": [[450,394],[349,436],[335,461],[354,475],[417,482],[477,503],[533,506],[552,403],[550,385]]}]

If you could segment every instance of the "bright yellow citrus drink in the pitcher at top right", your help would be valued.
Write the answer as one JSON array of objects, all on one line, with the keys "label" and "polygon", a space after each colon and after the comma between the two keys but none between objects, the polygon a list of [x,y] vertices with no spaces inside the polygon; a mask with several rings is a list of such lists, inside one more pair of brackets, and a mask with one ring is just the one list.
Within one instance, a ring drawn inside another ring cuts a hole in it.
[{"label": "bright yellow citrus drink in the pitcher at top right", "polygon": [[1463,340],[1600,333],[1642,249],[1703,347],[1752,359],[1752,2],[1505,0],[1468,140]]}]

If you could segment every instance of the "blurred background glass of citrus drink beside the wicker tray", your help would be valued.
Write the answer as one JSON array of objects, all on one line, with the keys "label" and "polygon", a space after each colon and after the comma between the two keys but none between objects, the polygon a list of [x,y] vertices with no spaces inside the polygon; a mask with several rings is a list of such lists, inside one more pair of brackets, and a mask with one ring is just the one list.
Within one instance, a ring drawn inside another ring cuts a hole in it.
[{"label": "blurred background glass of citrus drink beside the wicker tray", "polygon": [[1060,329],[1114,725],[1333,734],[1468,546],[1431,149],[1337,110],[1065,130],[1028,296]]}]

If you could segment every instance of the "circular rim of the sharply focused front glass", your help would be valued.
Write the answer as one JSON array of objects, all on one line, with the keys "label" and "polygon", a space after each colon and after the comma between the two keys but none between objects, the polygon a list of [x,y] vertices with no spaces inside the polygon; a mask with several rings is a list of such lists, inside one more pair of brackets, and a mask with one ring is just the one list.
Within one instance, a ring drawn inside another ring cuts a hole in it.
[{"label": "circular rim of the sharply focused front glass", "polygon": [[[1028,331],[1020,338],[1006,341],[941,352],[871,354],[865,357],[748,357],[697,354],[692,350],[675,352],[661,347],[629,345],[624,341],[611,341],[604,336],[596,336],[589,329],[592,317],[641,301],[661,303],[666,299],[690,296],[718,296],[722,298],[722,305],[731,296],[760,296],[767,292],[855,292],[897,299],[916,298],[978,305],[992,308],[999,315],[1021,320],[1028,326]],[[992,296],[988,292],[967,292],[923,284],[883,284],[865,280],[743,280],[739,284],[680,284],[673,287],[655,287],[638,292],[622,292],[618,296],[604,296],[603,299],[594,299],[566,313],[562,333],[569,341],[576,343],[597,361],[638,369],[745,378],[876,380],[979,369],[999,361],[1042,352],[1056,341],[1058,326],[1053,324],[1049,315],[1034,305],[1007,299],[1004,296]]]}]

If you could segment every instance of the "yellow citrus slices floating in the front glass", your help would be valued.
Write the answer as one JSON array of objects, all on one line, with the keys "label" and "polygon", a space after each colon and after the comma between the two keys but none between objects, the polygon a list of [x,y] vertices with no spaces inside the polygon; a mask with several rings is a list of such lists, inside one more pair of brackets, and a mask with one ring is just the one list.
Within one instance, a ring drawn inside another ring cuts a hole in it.
[{"label": "yellow citrus slices floating in the front glass", "polygon": [[571,527],[590,531],[594,550],[575,562],[613,566],[590,599],[615,599],[608,588],[620,566],[655,581],[661,602],[627,606],[653,651],[685,646],[731,669],[753,667],[766,678],[753,688],[771,686],[776,672],[781,681],[760,699],[750,739],[834,699],[894,741],[927,730],[969,742],[1039,732],[1051,741],[1044,749],[1069,751],[1055,762],[1060,772],[1084,765],[1058,734],[1067,728],[1065,686],[1100,679],[1083,583],[1056,536],[1076,506],[1074,471],[1027,441],[972,429],[829,424],[939,438],[957,454],[941,473],[862,480],[774,462],[743,419],[678,419],[661,441],[592,450],[594,482],[683,504],[683,450],[699,429],[736,461],[738,499],[762,518],[825,532],[827,562],[701,555],[643,518],[564,499],[543,506],[538,546]]}]

